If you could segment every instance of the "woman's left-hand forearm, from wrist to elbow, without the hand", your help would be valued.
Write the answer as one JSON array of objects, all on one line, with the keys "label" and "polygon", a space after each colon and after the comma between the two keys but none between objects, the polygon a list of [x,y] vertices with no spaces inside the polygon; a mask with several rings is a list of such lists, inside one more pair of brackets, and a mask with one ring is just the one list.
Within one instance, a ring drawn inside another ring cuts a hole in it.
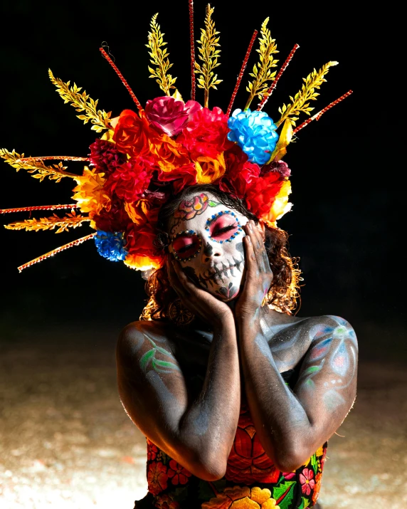
[{"label": "woman's left-hand forearm, from wrist to elbow, without the hand", "polygon": [[239,411],[240,373],[236,326],[233,318],[228,318],[213,333],[201,394],[179,424],[179,433],[184,443],[189,442],[194,451],[199,451],[201,463],[212,465],[214,469],[226,468]]}]

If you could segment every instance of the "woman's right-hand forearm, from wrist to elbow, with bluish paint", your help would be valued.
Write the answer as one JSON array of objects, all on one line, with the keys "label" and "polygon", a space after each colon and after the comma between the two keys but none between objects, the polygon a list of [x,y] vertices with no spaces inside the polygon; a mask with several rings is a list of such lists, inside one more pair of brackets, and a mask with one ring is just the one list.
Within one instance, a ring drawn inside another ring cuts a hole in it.
[{"label": "woman's right-hand forearm, from wrist to elbow, with bluish paint", "polygon": [[[285,384],[260,326],[238,323],[245,391],[261,444],[283,471],[307,455],[310,420]],[[312,444],[310,444],[312,446]],[[306,459],[306,458],[304,458]]]}]

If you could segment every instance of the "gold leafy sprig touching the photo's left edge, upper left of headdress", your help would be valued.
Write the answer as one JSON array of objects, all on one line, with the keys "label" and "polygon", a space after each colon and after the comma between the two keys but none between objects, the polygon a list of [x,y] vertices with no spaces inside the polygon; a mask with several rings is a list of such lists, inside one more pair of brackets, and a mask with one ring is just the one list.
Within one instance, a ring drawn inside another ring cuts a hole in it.
[{"label": "gold leafy sprig touching the photo's left edge, upper left of headdress", "polygon": [[13,168],[16,168],[17,172],[20,169],[26,169],[28,173],[32,173],[31,177],[39,179],[40,182],[46,177],[50,180],[60,182],[63,177],[70,177],[78,182],[78,175],[74,173],[65,172],[66,167],[63,166],[62,162],[53,164],[52,166],[46,166],[42,161],[36,161],[24,157],[24,154],[17,154],[15,150],[9,152],[7,149],[0,149],[0,157],[10,164]]}]

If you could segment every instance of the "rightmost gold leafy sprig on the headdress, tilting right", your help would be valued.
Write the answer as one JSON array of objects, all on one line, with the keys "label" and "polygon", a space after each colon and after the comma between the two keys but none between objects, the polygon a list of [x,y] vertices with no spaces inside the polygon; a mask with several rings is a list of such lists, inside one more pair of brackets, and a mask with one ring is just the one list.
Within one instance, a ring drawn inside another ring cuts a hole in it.
[{"label": "rightmost gold leafy sprig on the headdress, tilting right", "polygon": [[327,74],[329,68],[333,65],[338,65],[338,62],[328,62],[322,65],[322,68],[318,71],[314,69],[312,73],[307,75],[307,78],[302,78],[304,83],[301,90],[295,94],[294,98],[290,96],[291,104],[287,106],[284,104],[282,107],[278,108],[278,111],[281,113],[281,117],[280,120],[276,122],[277,127],[287,118],[290,119],[291,124],[295,126],[295,122],[298,120],[296,115],[299,115],[300,112],[310,115],[310,112],[312,112],[314,108],[310,107],[310,103],[308,101],[317,100],[319,95],[317,90],[319,90],[319,87],[322,83],[324,83],[324,81],[327,81],[324,78],[324,75]]}]

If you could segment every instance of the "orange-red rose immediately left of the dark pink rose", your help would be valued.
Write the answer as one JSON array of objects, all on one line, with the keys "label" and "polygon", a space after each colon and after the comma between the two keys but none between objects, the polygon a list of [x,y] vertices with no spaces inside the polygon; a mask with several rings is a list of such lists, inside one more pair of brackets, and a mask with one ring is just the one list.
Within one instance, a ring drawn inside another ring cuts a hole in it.
[{"label": "orange-red rose immediately left of the dark pink rose", "polygon": [[122,111],[113,135],[117,150],[133,156],[146,156],[149,153],[149,131],[149,124],[144,116],[140,118],[132,110]]}]

